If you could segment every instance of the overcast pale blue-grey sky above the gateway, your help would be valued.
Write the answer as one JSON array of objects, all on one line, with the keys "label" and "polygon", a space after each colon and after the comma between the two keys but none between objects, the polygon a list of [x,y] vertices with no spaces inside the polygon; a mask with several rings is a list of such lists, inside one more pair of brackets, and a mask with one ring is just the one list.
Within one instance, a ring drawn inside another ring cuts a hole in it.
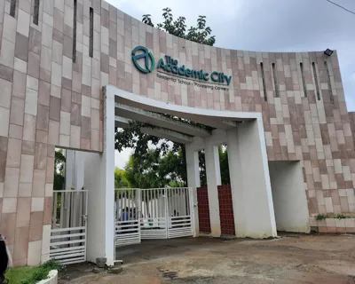
[{"label": "overcast pale blue-grey sky above the gateway", "polygon": [[[326,0],[106,0],[141,20],[151,14],[162,22],[162,9],[184,16],[187,27],[199,15],[216,36],[215,46],[248,51],[338,51],[348,110],[355,111],[355,14]],[[332,0],[355,12],[354,0]],[[130,149],[115,154],[123,168]]]}]

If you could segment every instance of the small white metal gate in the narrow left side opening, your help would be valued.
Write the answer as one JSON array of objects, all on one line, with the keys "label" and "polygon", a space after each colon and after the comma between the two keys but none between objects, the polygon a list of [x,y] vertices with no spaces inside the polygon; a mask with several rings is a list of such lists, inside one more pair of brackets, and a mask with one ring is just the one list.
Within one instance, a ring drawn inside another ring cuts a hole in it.
[{"label": "small white metal gate in the narrow left side opening", "polygon": [[53,192],[50,258],[62,264],[86,261],[88,192]]}]

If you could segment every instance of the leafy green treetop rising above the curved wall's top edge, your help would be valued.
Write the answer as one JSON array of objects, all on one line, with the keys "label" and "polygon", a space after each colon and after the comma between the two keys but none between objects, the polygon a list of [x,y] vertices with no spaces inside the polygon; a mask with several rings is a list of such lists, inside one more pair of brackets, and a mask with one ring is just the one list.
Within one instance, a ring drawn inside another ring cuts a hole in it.
[{"label": "leafy green treetop rising above the curved wall's top edge", "polygon": [[[164,19],[163,22],[157,24],[155,28],[161,29],[170,35],[185,38],[195,43],[203,43],[210,46],[213,46],[213,44],[216,43],[216,36],[210,36],[212,29],[206,27],[206,16],[199,16],[196,26],[190,27],[188,30],[186,30],[186,18],[180,16],[174,20],[170,8],[162,9],[162,18]],[[150,14],[143,15],[142,21],[146,25],[154,27]]]}]

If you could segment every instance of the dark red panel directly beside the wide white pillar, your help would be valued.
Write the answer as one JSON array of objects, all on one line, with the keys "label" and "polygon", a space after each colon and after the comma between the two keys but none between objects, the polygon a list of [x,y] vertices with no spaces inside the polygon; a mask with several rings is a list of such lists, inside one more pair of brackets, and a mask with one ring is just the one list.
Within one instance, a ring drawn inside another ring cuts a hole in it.
[{"label": "dark red panel directly beside the wide white pillar", "polygon": [[231,185],[218,185],[221,234],[235,235]]}]

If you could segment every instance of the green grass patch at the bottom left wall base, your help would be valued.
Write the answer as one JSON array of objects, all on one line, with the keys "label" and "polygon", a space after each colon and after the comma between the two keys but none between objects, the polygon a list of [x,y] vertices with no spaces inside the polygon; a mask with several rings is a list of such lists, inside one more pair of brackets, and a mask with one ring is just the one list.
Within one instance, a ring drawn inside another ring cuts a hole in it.
[{"label": "green grass patch at the bottom left wall base", "polygon": [[36,284],[40,280],[47,279],[51,270],[61,271],[63,265],[56,260],[50,260],[35,267],[14,267],[9,269],[5,278],[11,284]]}]

